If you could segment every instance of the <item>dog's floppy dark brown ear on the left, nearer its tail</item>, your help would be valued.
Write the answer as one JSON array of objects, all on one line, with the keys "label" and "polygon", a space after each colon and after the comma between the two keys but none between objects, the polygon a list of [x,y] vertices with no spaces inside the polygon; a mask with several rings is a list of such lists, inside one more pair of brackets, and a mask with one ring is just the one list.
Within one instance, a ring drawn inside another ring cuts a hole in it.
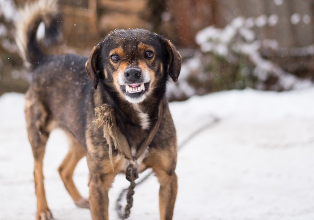
[{"label": "dog's floppy dark brown ear on the left, nearer its tail", "polygon": [[99,68],[98,68],[98,56],[100,55],[100,46],[96,45],[90,54],[89,59],[85,63],[85,69],[87,72],[88,77],[91,79],[91,81],[94,84],[94,88],[97,89],[98,83],[99,83]]}]

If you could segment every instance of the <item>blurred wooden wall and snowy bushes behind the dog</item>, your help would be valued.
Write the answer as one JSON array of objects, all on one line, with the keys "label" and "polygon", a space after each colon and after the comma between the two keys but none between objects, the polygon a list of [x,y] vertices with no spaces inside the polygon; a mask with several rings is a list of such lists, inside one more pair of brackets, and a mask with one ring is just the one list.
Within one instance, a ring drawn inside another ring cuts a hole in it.
[{"label": "blurred wooden wall and snowy bushes behind the dog", "polygon": [[[14,42],[17,9],[0,1],[0,94],[24,93],[29,74]],[[214,91],[285,91],[313,86],[314,0],[60,0],[58,53],[89,55],[116,28],[146,28],[180,50],[171,100]]]}]

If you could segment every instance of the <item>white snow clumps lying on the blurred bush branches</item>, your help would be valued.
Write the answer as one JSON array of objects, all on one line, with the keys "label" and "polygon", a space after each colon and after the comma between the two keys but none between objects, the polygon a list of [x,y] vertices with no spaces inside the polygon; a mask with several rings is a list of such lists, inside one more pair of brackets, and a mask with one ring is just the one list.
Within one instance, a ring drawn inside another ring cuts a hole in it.
[{"label": "white snow clumps lying on the blurred bush branches", "polygon": [[[209,26],[200,30],[195,37],[195,42],[200,46],[200,51],[209,57],[207,60],[204,59],[200,65],[200,72],[209,72],[206,69],[210,69],[209,67],[215,65],[214,62],[210,62],[211,57],[225,58],[229,62],[239,66],[250,66],[249,73],[252,73],[257,79],[253,82],[254,87],[257,89],[265,90],[267,87],[265,81],[271,76],[278,79],[276,84],[268,88],[271,90],[281,91],[312,87],[313,83],[310,80],[298,78],[286,72],[276,62],[262,55],[262,49],[275,51],[280,51],[281,49],[278,48],[278,41],[276,39],[259,39],[253,30],[253,25],[257,27],[263,27],[266,24],[273,26],[278,22],[277,17],[276,15],[270,15],[269,17],[260,15],[255,19],[252,17],[236,17],[224,28]],[[304,53],[308,54],[311,52],[311,48],[312,45],[304,48],[292,48],[289,53],[292,56],[299,56]],[[189,68],[185,68],[183,65],[183,70],[185,69],[188,70]],[[182,78],[179,78],[179,83],[181,81]],[[178,89],[178,87],[172,88]],[[170,91],[172,92],[172,90]],[[193,91],[190,91],[189,94],[192,94]],[[181,94],[184,94],[184,92],[181,92]]]}]

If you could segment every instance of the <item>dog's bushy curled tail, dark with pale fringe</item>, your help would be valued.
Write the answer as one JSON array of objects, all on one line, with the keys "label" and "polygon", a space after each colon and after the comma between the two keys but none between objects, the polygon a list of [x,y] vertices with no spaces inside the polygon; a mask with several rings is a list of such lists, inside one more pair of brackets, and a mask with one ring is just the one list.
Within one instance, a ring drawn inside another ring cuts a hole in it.
[{"label": "dog's bushy curled tail, dark with pale fringe", "polygon": [[34,68],[46,56],[48,47],[62,38],[61,13],[57,0],[37,0],[19,10],[16,43],[26,66]]}]

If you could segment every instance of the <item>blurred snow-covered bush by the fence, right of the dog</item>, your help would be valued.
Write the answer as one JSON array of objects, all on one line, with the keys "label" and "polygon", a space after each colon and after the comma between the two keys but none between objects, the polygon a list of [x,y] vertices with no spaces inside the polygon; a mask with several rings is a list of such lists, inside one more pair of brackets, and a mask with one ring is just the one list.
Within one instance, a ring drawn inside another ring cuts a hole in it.
[{"label": "blurred snow-covered bush by the fence, right of the dog", "polygon": [[[273,26],[277,15],[237,17],[224,28],[209,26],[195,38],[199,51],[183,62],[178,85],[169,88],[170,97],[188,98],[223,89],[251,87],[262,90],[290,90],[313,86],[263,56],[261,50],[280,52],[276,39],[260,39],[256,27]],[[290,56],[313,54],[314,46],[292,48]]]}]

